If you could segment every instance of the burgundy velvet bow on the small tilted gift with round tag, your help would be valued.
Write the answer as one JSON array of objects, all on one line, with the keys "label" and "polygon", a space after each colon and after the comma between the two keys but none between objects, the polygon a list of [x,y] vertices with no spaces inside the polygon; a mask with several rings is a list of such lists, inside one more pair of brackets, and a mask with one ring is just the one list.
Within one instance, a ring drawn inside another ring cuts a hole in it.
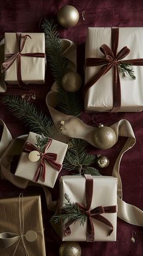
[{"label": "burgundy velvet bow on the small tilted gift with round tag", "polygon": [[48,139],[48,143],[45,145],[44,152],[39,151],[39,149],[32,143],[26,142],[24,146],[24,152],[29,153],[32,151],[38,151],[41,157],[41,163],[36,170],[35,176],[33,177],[33,182],[38,182],[38,179],[41,178],[42,182],[45,182],[45,161],[47,161],[56,171],[60,171],[62,165],[56,163],[57,154],[55,153],[46,153],[47,149],[50,147],[52,139]]}]

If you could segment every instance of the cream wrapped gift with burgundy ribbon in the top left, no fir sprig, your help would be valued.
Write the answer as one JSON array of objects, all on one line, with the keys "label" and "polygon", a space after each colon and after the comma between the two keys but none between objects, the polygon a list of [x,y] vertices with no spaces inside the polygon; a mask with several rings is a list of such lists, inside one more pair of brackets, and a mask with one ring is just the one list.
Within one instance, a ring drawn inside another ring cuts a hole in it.
[{"label": "cream wrapped gift with burgundy ribbon in the top left, no fir sprig", "polygon": [[8,84],[44,84],[44,33],[5,33],[5,82]]}]

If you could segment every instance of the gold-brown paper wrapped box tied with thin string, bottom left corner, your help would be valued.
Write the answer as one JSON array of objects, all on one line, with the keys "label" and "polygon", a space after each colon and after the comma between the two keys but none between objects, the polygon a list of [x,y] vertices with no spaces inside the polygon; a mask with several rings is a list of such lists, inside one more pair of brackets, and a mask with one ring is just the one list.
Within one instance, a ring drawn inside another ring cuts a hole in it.
[{"label": "gold-brown paper wrapped box tied with thin string, bottom left corner", "polygon": [[1,256],[46,256],[40,196],[0,199],[0,219]]}]

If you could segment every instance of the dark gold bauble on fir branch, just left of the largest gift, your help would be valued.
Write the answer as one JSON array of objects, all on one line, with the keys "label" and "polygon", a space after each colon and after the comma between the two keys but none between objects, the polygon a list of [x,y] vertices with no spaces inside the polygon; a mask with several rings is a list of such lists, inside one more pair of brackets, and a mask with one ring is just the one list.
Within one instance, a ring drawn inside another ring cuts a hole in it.
[{"label": "dark gold bauble on fir branch, just left of the largest gift", "polygon": [[76,72],[69,71],[62,77],[62,87],[65,91],[68,91],[68,93],[78,91],[81,88],[81,85],[82,78]]}]

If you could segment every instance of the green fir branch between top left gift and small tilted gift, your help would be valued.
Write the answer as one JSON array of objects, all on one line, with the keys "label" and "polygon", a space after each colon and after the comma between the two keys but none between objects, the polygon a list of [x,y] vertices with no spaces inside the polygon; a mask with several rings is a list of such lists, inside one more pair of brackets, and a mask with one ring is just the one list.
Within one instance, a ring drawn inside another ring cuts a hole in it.
[{"label": "green fir branch between top left gift and small tilted gift", "polygon": [[2,101],[7,104],[8,109],[16,118],[30,128],[30,131],[49,137],[52,119],[36,108],[33,103],[16,95],[5,96]]}]

